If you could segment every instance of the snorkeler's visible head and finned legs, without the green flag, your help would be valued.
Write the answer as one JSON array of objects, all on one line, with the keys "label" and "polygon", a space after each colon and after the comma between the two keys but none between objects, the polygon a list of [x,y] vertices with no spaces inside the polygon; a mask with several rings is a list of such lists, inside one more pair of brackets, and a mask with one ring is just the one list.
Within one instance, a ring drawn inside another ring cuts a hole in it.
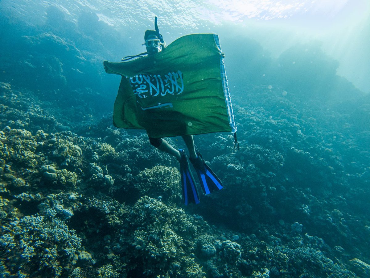
[{"label": "snorkeler's visible head and finned legs, without the green flag", "polygon": [[[159,33],[157,25],[157,17],[155,17],[155,31],[146,30],[144,34],[145,47],[148,55],[154,55],[161,52],[166,47],[162,35]],[[204,162],[199,151],[195,151],[194,139],[192,135],[183,135],[182,139],[189,150],[190,159],[182,149],[176,150],[163,138],[152,138],[149,136],[149,142],[155,148],[175,156],[180,162],[182,197],[185,205],[188,203],[199,203],[199,193],[194,181],[194,177],[189,168],[189,160],[195,168],[201,183],[203,192],[209,194],[214,190],[222,189],[222,183],[219,178],[213,173],[209,166]]]}]

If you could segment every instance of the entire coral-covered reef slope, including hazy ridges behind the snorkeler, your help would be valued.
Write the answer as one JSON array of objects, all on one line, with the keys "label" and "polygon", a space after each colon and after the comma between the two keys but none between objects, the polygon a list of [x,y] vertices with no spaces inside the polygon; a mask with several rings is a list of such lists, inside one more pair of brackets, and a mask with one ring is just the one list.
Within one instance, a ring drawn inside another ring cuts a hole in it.
[{"label": "entire coral-covered reef slope, including hazy ridges behind the snorkeler", "polygon": [[128,39],[45,12],[0,9],[0,277],[370,277],[370,97],[320,47],[230,40],[240,150],[195,136],[224,189],[185,206],[177,160],[112,126]]}]

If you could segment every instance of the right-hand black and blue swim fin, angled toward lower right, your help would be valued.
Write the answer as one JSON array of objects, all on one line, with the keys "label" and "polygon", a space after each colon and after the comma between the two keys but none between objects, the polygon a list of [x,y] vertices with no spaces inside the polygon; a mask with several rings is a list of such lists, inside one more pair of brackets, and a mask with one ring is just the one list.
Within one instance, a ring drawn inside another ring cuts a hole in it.
[{"label": "right-hand black and blue swim fin, angled toward lower right", "polygon": [[198,174],[199,182],[201,183],[203,192],[209,194],[215,190],[220,190],[223,188],[222,182],[216,176],[215,173],[209,168],[209,166],[204,162],[201,153],[197,150],[197,158],[189,158],[193,164],[196,173]]}]

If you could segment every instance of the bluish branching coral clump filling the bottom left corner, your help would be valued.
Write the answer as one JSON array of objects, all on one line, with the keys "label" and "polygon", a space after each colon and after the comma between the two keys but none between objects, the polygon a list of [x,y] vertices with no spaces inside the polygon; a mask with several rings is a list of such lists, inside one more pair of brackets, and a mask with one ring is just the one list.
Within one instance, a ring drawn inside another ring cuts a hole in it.
[{"label": "bluish branching coral clump filling the bottom left corner", "polygon": [[43,277],[60,277],[73,266],[82,249],[80,238],[58,218],[25,216],[6,224],[0,238],[1,264],[5,273],[19,270]]}]

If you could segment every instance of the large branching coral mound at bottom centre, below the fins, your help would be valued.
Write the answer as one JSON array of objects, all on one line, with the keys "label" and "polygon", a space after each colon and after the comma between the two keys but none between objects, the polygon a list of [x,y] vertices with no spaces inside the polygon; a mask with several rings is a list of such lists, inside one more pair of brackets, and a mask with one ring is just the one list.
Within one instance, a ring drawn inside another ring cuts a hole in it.
[{"label": "large branching coral mound at bottom centre, below the fins", "polygon": [[[134,206],[130,215],[133,232],[132,246],[135,260],[148,262],[143,266],[146,275],[167,273],[169,277],[186,274],[187,277],[203,277],[203,271],[196,262],[189,258],[192,250],[192,237],[199,235],[202,219],[188,216],[175,206],[142,197]],[[181,262],[187,262],[186,265]],[[177,265],[177,267],[171,267]]]}]

